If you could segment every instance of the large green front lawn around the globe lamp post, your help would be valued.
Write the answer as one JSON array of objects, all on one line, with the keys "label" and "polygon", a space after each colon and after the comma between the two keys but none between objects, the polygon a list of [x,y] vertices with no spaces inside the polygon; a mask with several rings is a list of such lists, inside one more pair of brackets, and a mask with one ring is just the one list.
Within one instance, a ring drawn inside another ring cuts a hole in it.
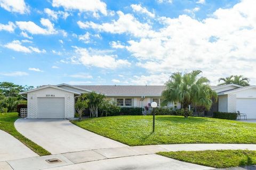
[{"label": "large green front lawn around the globe lamp post", "polygon": [[72,121],[130,146],[171,143],[256,143],[256,124],[183,116],[112,116]]}]

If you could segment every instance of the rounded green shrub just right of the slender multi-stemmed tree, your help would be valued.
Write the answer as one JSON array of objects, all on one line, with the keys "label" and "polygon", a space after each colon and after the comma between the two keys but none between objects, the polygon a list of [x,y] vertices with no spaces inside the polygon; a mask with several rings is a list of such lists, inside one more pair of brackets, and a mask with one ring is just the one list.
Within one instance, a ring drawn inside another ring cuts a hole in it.
[{"label": "rounded green shrub just right of the slender multi-stemmed tree", "polygon": [[101,105],[99,106],[100,116],[102,117],[108,115],[115,115],[121,111],[121,107],[117,106],[114,101],[111,100],[103,100]]}]

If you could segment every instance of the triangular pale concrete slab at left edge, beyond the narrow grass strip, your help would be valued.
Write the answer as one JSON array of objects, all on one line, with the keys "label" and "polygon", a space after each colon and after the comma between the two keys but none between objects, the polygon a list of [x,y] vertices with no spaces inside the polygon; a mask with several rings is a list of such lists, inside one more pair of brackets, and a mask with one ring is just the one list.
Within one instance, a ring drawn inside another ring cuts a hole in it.
[{"label": "triangular pale concrete slab at left edge, beyond the narrow grass strip", "polygon": [[[0,130],[0,162],[38,156],[18,139]],[[1,166],[0,166],[1,169]]]}]

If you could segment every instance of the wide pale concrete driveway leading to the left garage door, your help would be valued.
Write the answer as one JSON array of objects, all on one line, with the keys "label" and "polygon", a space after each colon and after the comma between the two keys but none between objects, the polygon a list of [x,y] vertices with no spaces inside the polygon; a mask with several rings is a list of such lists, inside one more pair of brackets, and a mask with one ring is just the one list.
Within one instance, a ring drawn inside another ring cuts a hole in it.
[{"label": "wide pale concrete driveway leading to the left garage door", "polygon": [[86,131],[58,119],[18,119],[15,128],[51,154],[124,147],[123,143]]}]

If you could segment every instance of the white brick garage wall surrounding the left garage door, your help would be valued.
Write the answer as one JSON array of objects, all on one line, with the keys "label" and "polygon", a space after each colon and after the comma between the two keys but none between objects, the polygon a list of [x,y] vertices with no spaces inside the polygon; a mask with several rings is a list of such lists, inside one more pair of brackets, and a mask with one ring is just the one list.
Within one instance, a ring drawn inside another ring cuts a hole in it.
[{"label": "white brick garage wall surrounding the left garage door", "polygon": [[[54,97],[63,97],[65,100],[65,118],[73,118],[75,114],[74,94],[68,91],[55,89],[52,87],[39,89],[28,92],[28,118],[37,118],[38,115],[38,97],[46,97],[46,95],[54,95]],[[49,97],[52,98],[52,97]]]}]

